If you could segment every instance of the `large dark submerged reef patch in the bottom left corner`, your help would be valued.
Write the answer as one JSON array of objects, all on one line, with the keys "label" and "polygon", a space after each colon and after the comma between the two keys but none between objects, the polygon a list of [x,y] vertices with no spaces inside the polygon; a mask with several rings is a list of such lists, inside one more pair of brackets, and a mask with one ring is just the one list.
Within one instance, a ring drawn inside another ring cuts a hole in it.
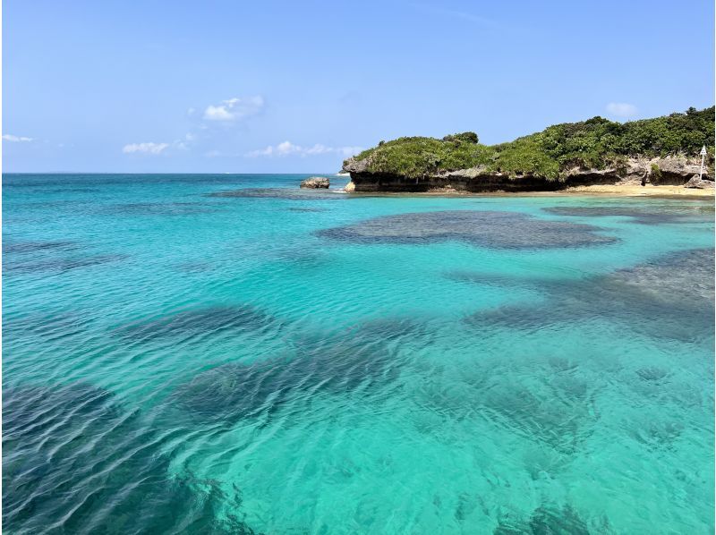
[{"label": "large dark submerged reef patch in the bottom left corner", "polygon": [[3,424],[6,531],[255,533],[240,489],[176,474],[166,444],[176,429],[154,429],[107,390],[4,387]]}]

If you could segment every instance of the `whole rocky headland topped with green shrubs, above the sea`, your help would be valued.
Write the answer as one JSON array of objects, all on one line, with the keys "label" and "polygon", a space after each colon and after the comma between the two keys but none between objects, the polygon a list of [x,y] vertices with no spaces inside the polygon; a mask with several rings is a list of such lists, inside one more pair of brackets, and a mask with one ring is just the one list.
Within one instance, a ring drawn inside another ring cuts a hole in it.
[{"label": "whole rocky headland topped with green shrubs, above the sea", "polygon": [[[701,174],[703,147],[706,148]],[[592,117],[483,145],[474,132],[380,141],[343,163],[346,191],[563,191],[600,185],[713,191],[714,106],[626,123]]]}]

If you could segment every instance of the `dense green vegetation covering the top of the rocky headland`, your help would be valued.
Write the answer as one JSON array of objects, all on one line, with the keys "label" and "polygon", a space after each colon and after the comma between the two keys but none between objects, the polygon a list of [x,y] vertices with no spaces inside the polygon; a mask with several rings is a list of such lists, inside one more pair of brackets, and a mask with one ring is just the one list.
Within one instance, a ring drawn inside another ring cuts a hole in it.
[{"label": "dense green vegetation covering the top of the rocky headland", "polygon": [[[366,160],[369,173],[421,178],[440,171],[482,166],[512,177],[523,174],[558,180],[567,169],[623,169],[626,157],[697,157],[703,145],[714,157],[714,106],[684,114],[615,123],[593,117],[581,123],[550,126],[508,143],[482,145],[474,132],[435,138],[381,141],[354,157]],[[347,164],[347,162],[346,162]]]}]

